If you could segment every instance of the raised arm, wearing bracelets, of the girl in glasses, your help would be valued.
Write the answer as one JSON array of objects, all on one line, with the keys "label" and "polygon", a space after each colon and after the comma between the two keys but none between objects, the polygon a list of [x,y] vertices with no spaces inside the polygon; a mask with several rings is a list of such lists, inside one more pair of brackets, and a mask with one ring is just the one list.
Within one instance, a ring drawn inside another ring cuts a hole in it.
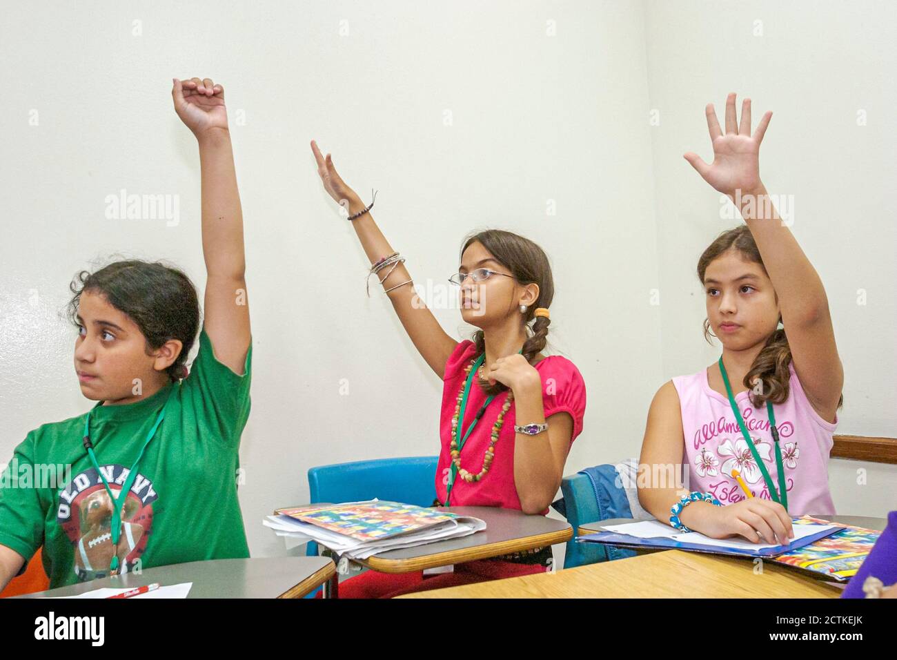
[{"label": "raised arm, wearing bracelets, of the girl in glasses", "polygon": [[[315,154],[315,161],[318,163],[318,174],[324,184],[324,189],[327,190],[330,197],[334,198],[337,204],[343,206],[350,216],[366,208],[367,205],[361,201],[361,198],[355,191],[349,188],[336,172],[330,154],[327,154],[327,158],[325,158],[314,140],[311,141],[311,151]],[[388,257],[394,252],[386,237],[380,232],[377,223],[374,222],[370,211],[355,218],[352,224],[359,241],[361,241],[361,247],[364,249],[364,253],[368,256],[371,264]],[[386,277],[388,273],[389,275]],[[449,337],[445,330],[442,330],[439,321],[433,316],[433,312],[414,293],[414,286],[408,282],[411,276],[408,275],[405,264],[399,263],[396,268],[392,266],[384,268],[373,277],[383,280],[384,290],[392,289],[387,295],[393,304],[393,309],[398,314],[399,321],[402,321],[405,332],[408,333],[408,337],[414,343],[414,348],[417,348],[426,363],[430,365],[430,368],[440,378],[443,378],[446,362],[457,346],[457,341]]]}]

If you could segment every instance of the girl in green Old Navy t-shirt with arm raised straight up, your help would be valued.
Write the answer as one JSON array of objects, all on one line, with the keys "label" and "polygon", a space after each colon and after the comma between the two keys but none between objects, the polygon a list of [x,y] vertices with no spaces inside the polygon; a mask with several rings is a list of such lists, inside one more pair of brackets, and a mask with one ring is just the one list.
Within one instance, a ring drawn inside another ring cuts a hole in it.
[{"label": "girl in green Old Navy t-shirt with arm raised straight up", "polygon": [[97,403],[15,448],[0,477],[0,589],[40,547],[51,587],[249,555],[237,473],[252,349],[224,91],[174,79],[171,95],[199,146],[203,326],[175,268],[127,260],[75,278],[74,370]]}]

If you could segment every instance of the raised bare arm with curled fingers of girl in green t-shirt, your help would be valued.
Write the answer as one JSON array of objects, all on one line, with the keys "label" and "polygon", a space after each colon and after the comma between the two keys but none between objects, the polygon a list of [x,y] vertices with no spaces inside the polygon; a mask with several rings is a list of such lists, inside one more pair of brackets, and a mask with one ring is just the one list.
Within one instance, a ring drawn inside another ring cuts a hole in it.
[{"label": "raised bare arm with curled fingers of girl in green t-shirt", "polygon": [[174,109],[199,145],[202,177],[205,331],[215,357],[243,374],[249,348],[249,306],[243,212],[239,205],[224,89],[209,78],[174,79]]}]

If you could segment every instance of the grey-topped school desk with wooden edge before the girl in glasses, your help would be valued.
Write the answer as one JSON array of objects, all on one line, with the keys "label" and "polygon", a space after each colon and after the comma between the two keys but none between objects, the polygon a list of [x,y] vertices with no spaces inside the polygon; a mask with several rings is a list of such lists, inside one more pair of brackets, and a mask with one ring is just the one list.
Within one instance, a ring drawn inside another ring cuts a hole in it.
[{"label": "grey-topped school desk with wooden edge before the girl in glasses", "polygon": [[[486,529],[457,539],[388,550],[368,559],[356,559],[354,563],[381,573],[411,573],[565,543],[573,538],[570,523],[544,515],[527,515],[516,509],[496,506],[447,506],[446,510],[480,518],[485,521]],[[337,577],[331,577],[325,585],[326,597],[339,597]]]}]

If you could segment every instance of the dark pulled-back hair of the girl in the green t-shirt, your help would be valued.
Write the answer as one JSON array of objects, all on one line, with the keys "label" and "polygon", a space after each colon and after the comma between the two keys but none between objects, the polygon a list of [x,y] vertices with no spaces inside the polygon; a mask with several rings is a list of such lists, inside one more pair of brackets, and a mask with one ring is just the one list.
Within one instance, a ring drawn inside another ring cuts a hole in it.
[{"label": "dark pulled-back hair of the girl in the green t-shirt", "polygon": [[95,273],[82,270],[69,288],[73,296],[68,318],[74,325],[80,325],[81,295],[85,291],[103,295],[144,333],[148,355],[166,341],[179,339],[180,355],[165,371],[172,381],[187,375],[187,355],[199,330],[199,300],[196,286],[181,270],[159,261],[115,261]]}]

